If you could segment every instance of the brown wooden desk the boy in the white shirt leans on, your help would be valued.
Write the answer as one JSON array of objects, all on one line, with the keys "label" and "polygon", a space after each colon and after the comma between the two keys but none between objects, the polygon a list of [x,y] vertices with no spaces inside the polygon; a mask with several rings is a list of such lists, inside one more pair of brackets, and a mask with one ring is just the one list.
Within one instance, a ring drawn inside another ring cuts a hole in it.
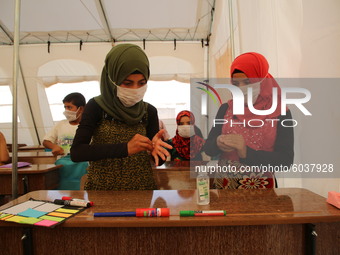
[{"label": "brown wooden desk the boy in the white shirt leans on", "polygon": [[[12,153],[10,153],[12,158]],[[57,157],[53,156],[52,152],[45,151],[25,151],[18,152],[18,161],[29,162],[32,164],[54,164]]]}]

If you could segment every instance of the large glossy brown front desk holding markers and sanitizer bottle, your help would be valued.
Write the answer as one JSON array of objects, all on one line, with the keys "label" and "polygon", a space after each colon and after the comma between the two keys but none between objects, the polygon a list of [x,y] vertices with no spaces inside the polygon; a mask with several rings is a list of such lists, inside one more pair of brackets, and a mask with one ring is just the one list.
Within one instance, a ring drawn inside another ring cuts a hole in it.
[{"label": "large glossy brown front desk holding markers and sanitizer bottle", "polygon": [[[305,189],[211,190],[211,203],[196,204],[195,190],[36,191],[28,198],[71,196],[95,206],[54,229],[0,221],[4,254],[21,254],[24,228],[34,254],[305,254],[306,226],[315,224],[316,254],[339,254],[340,211]],[[94,218],[94,212],[168,207],[170,217]],[[227,216],[179,217],[180,210],[227,210]]]}]

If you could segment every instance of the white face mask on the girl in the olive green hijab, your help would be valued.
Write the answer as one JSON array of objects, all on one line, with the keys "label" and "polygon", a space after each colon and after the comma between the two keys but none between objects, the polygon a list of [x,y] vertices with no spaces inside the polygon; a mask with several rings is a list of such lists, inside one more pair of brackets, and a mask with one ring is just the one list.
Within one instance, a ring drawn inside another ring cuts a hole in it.
[{"label": "white face mask on the girl in the olive green hijab", "polygon": [[147,87],[147,84],[138,89],[129,89],[117,86],[117,97],[125,107],[131,107],[143,99]]}]

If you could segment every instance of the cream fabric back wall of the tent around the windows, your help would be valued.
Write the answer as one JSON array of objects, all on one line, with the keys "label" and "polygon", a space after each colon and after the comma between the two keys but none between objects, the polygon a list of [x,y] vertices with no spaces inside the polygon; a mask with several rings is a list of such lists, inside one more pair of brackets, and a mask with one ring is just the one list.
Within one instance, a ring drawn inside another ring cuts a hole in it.
[{"label": "cream fabric back wall of the tent around the windows", "polygon": [[[143,47],[142,42],[135,44]],[[152,80],[175,79],[189,82],[191,77],[201,77],[204,73],[205,50],[201,43],[178,42],[176,50],[173,42],[148,42],[145,46],[145,52],[150,60]],[[47,45],[20,46],[20,66],[23,73],[18,84],[20,143],[38,144],[27,97],[41,140],[54,125],[45,87],[57,82],[99,80],[105,56],[111,47],[111,43],[84,43],[80,51],[79,44],[76,43],[53,44],[48,53]],[[0,82],[2,85],[11,85],[13,48],[1,46],[0,55],[1,58],[8,59],[0,63]],[[1,130],[10,143],[11,125],[1,124]]]}]

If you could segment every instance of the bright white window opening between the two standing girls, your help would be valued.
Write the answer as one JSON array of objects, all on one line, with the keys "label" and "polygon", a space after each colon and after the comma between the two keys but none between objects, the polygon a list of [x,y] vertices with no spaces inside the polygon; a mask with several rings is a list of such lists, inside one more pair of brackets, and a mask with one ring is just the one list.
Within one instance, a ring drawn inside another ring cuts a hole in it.
[{"label": "bright white window opening between the two standing girls", "polygon": [[176,119],[180,111],[190,110],[190,83],[148,81],[144,101],[157,108],[159,119]]}]

